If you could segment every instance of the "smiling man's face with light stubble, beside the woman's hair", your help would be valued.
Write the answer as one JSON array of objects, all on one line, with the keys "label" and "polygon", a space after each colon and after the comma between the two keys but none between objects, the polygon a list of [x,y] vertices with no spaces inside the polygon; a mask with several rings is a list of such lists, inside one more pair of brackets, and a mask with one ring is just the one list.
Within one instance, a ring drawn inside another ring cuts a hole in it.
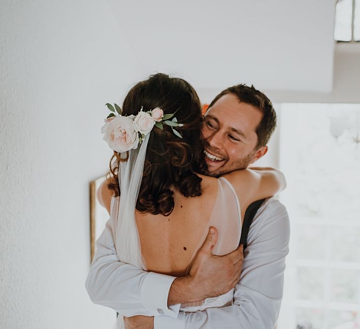
[{"label": "smiling man's face with light stubble, beside the woman's hair", "polygon": [[234,94],[222,96],[207,110],[201,132],[205,141],[205,161],[211,176],[244,169],[267,151],[256,149],[256,127],[261,110],[239,101]]}]

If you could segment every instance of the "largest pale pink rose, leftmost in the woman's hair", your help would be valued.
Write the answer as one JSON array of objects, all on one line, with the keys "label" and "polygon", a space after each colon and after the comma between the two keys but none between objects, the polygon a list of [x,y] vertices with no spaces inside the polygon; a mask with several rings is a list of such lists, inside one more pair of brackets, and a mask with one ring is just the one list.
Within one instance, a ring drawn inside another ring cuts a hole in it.
[{"label": "largest pale pink rose, leftmost in the woman's hair", "polygon": [[128,116],[113,116],[102,127],[104,141],[111,149],[119,153],[136,148],[139,144],[139,135],[134,130],[133,120]]}]

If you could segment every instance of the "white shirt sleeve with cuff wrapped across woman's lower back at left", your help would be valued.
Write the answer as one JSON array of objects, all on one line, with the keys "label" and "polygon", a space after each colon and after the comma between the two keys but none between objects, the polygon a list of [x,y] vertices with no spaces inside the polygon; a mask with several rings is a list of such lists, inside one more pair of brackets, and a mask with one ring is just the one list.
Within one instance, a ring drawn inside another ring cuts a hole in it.
[{"label": "white shirt sleeve with cuff wrapped across woman's lower back at left", "polygon": [[167,306],[174,279],[120,262],[108,220],[96,242],[85,287],[94,303],[110,307],[121,315],[166,315],[171,318],[177,317],[180,309],[180,304]]}]

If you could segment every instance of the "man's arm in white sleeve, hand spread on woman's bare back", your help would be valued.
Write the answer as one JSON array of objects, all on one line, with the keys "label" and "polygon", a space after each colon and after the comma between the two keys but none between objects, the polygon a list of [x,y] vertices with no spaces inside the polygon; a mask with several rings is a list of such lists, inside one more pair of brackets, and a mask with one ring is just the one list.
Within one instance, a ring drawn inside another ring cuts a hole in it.
[{"label": "man's arm in white sleeve, hand spread on woman's bare back", "polygon": [[[94,303],[113,308],[127,317],[162,314],[176,317],[180,303],[202,300],[235,287],[240,275],[242,249],[228,256],[214,256],[211,249],[216,237],[216,229],[214,233],[209,230],[190,275],[175,278],[120,262],[109,220],[96,242],[86,290]],[[218,276],[213,275],[214,271]],[[219,284],[219,278],[226,280]]]}]

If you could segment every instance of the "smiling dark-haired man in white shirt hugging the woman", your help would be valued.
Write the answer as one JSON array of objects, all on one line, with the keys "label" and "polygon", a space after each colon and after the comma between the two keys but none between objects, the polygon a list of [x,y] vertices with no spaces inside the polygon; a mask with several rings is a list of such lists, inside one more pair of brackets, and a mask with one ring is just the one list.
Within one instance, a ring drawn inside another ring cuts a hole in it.
[{"label": "smiling dark-haired man in white shirt hugging the woman", "polygon": [[[254,87],[237,85],[224,90],[211,102],[202,127],[209,174],[220,176],[258,160],[267,152],[275,125],[271,102]],[[285,208],[270,198],[259,209],[250,226],[243,262],[241,247],[226,256],[213,256],[216,237],[216,230],[210,228],[190,274],[174,278],[119,262],[108,222],[86,281],[88,293],[93,302],[127,316],[125,325],[130,329],[273,329],[288,253]],[[231,306],[179,312],[181,303],[220,295],[234,286]]]}]

